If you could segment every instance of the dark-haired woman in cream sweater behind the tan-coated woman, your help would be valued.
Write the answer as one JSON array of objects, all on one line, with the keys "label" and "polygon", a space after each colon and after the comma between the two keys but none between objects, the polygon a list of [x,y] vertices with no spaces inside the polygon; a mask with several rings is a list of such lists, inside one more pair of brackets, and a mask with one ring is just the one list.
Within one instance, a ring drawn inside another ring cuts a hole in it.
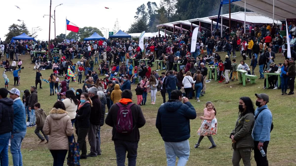
[{"label": "dark-haired woman in cream sweater behind the tan-coated woman", "polygon": [[[68,112],[68,115],[71,118],[71,123],[73,126],[73,123],[75,122],[75,116],[76,116],[76,110],[77,110],[77,105],[78,101],[76,100],[76,97],[74,95],[74,92],[72,90],[67,90],[66,91],[66,98],[62,101],[65,105],[65,108]],[[73,136],[69,137],[69,142],[73,141]]]}]

